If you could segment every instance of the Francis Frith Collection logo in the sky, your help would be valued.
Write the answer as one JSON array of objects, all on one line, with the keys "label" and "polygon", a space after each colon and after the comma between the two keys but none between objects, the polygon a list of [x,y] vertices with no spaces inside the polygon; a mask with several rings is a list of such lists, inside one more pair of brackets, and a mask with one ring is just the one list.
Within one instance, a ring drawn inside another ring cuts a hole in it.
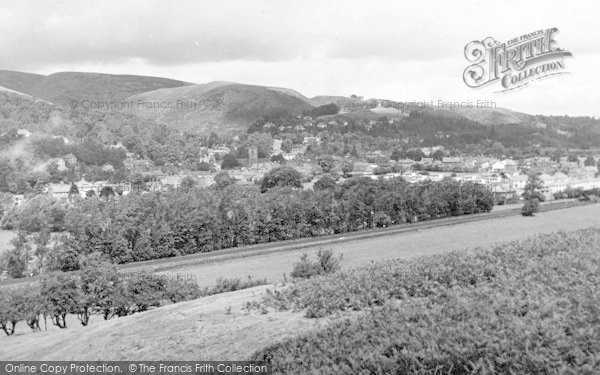
[{"label": "Francis Frith Collection logo in the sky", "polygon": [[538,30],[500,43],[492,37],[465,47],[468,66],[463,79],[469,87],[499,81],[500,91],[513,90],[540,78],[567,73],[565,58],[571,52],[558,47],[557,28]]}]

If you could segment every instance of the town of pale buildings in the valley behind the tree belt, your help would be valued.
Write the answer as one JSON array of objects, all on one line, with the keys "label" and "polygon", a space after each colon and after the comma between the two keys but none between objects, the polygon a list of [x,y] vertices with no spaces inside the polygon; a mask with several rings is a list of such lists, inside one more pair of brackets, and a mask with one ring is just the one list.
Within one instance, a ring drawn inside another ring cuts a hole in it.
[{"label": "town of pale buildings in the valley behind the tree belt", "polygon": [[[518,201],[527,183],[528,175],[539,175],[543,183],[544,196],[547,200],[560,198],[572,191],[586,191],[600,189],[598,177],[598,160],[600,154],[583,156],[563,156],[558,159],[552,157],[533,157],[523,160],[497,159],[486,156],[441,156],[444,147],[423,147],[419,151],[423,157],[418,160],[402,158],[395,159],[394,155],[376,150],[368,152],[364,157],[352,158],[331,157],[331,166],[325,168],[319,165],[319,160],[305,157],[306,149],[311,144],[319,144],[319,137],[304,137],[301,145],[295,145],[288,152],[281,148],[282,141],[274,140],[269,157],[259,158],[257,146],[248,148],[248,158],[236,159],[234,167],[223,167],[223,158],[230,154],[231,148],[227,145],[202,147],[199,159],[206,167],[206,171],[186,171],[165,174],[157,169],[152,162],[136,158],[128,152],[124,161],[125,167],[131,173],[152,176],[143,183],[142,191],[161,191],[179,189],[188,179],[194,185],[208,187],[215,183],[219,173],[227,173],[235,179],[237,184],[258,183],[271,169],[282,164],[293,167],[302,174],[305,188],[312,188],[313,184],[324,174],[333,175],[336,180],[343,181],[349,177],[368,177],[371,179],[402,177],[408,182],[441,181],[450,178],[456,181],[469,181],[488,187],[495,195],[496,202]],[[75,157],[70,154],[57,158],[59,170],[66,170],[68,165],[76,163]],[[325,163],[327,164],[327,163]],[[103,170],[111,171],[114,167],[104,165]],[[140,188],[138,186],[138,188]],[[103,189],[111,189],[115,194],[126,195],[132,190],[132,183],[127,181],[79,181],[69,183],[48,183],[44,192],[55,198],[68,198],[76,191],[82,198],[101,195]],[[25,199],[23,195],[14,195],[16,203]]]}]

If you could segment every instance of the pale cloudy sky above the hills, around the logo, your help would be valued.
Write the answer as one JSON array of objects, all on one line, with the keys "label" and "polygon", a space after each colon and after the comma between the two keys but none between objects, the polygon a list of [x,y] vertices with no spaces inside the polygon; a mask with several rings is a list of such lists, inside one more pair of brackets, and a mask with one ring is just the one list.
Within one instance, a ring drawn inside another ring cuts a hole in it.
[{"label": "pale cloudy sky above the hills, around the logo", "polygon": [[[5,1],[0,69],[139,74],[287,87],[308,96],[491,102],[600,116],[595,1]],[[569,74],[473,89],[465,46],[556,27]]]}]

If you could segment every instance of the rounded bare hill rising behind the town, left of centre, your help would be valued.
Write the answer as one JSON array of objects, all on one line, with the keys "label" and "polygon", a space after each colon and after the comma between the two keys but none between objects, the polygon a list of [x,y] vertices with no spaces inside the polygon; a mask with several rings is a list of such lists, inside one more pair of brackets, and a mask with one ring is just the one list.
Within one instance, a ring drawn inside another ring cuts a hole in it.
[{"label": "rounded bare hill rising behind the town, left of centre", "polygon": [[136,115],[204,134],[245,131],[261,117],[288,117],[312,109],[286,91],[228,82],[150,91],[128,100]]}]

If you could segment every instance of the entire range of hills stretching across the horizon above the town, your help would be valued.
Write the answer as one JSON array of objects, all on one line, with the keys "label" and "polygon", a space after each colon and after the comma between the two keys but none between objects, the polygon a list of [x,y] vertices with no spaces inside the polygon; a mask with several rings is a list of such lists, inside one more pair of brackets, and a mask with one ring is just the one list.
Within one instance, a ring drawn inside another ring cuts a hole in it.
[{"label": "entire range of hills stretching across the horizon above the town", "polygon": [[[108,111],[68,106],[71,100],[86,99],[131,105]],[[331,104],[339,108],[337,113],[322,108]],[[62,72],[44,76],[0,70],[0,134],[23,128],[75,139],[121,142],[140,138],[142,133],[151,137],[156,127],[167,133],[236,135],[249,129],[264,131],[267,122],[278,125],[268,128],[275,134],[281,125],[284,129],[305,125],[299,115],[310,115],[327,123],[347,123],[352,132],[412,137],[450,146],[483,144],[490,139],[515,147],[589,148],[600,143],[600,121],[595,118],[534,116],[505,108],[413,109],[410,103],[385,99],[354,95],[307,98],[291,88],[235,82],[191,84],[136,75]]]}]

